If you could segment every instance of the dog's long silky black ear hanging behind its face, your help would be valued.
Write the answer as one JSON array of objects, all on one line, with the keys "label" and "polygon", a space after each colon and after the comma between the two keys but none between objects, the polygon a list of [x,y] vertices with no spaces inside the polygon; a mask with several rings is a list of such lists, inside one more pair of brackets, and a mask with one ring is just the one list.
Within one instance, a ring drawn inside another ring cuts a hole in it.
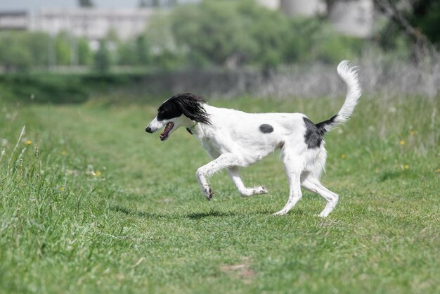
[{"label": "dog's long silky black ear hanging behind its face", "polygon": [[202,122],[204,124],[211,124],[209,115],[203,108],[202,103],[205,103],[202,97],[191,93],[179,94],[176,98],[176,107],[185,115],[195,122]]}]

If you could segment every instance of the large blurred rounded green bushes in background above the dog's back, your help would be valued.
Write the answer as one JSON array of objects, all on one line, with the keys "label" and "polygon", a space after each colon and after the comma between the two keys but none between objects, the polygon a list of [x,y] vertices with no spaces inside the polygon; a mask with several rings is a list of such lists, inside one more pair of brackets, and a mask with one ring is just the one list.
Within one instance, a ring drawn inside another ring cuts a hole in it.
[{"label": "large blurred rounded green bushes in background above the dog's back", "polygon": [[[188,21],[190,20],[190,21]],[[203,1],[170,15],[176,46],[193,65],[333,62],[358,53],[363,40],[344,37],[321,18],[287,18],[253,1]]]}]

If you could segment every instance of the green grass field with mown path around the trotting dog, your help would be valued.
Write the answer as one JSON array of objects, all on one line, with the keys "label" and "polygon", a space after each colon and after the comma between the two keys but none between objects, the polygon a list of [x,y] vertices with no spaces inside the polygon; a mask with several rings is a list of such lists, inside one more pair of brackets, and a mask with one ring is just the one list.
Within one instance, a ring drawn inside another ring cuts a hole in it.
[{"label": "green grass field with mown path around the trotting dog", "polygon": [[[342,100],[211,104],[319,122]],[[159,100],[2,103],[0,293],[440,293],[439,101],[361,98],[326,136],[327,219],[307,192],[271,215],[288,191],[277,154],[242,170],[269,194],[240,198],[216,174],[205,200],[200,143],[144,132]]]}]

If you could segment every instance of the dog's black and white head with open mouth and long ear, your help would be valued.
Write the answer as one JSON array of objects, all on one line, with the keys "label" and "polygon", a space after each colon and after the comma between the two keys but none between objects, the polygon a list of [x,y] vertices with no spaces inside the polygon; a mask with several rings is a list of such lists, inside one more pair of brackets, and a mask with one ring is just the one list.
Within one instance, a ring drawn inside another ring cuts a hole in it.
[{"label": "dog's black and white head with open mouth and long ear", "polygon": [[177,94],[169,98],[157,110],[156,117],[148,124],[146,132],[152,134],[165,126],[160,140],[165,141],[179,127],[190,127],[194,122],[209,124],[209,115],[203,104],[205,101],[194,94]]}]

